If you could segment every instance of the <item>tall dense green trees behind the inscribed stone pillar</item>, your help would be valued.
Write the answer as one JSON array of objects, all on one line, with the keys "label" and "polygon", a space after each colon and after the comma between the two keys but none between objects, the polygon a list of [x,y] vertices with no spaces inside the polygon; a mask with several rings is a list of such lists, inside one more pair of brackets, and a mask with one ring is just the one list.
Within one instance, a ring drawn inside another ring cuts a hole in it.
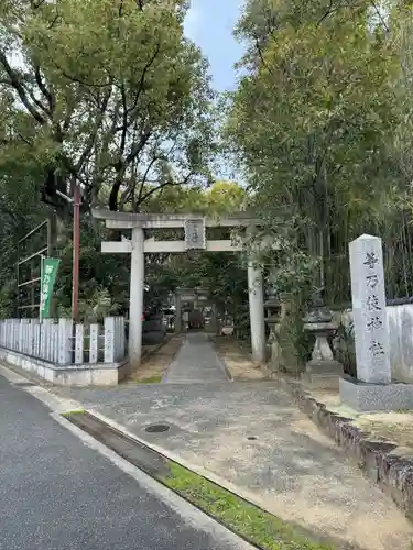
[{"label": "tall dense green trees behind the inscribed stone pillar", "polygon": [[306,253],[307,266],[318,264],[308,283],[325,284],[336,302],[349,297],[348,242],[382,234],[407,185],[393,150],[401,64],[389,24],[368,0],[250,0],[238,28],[247,74],[227,135],[285,244],[271,262],[291,279],[306,270],[296,252]]}]

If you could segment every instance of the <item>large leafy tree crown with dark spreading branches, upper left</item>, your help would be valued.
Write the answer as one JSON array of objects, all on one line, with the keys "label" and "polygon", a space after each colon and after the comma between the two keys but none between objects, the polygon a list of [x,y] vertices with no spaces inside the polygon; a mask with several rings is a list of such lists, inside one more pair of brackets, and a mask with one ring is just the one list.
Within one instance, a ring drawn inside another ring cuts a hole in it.
[{"label": "large leafy tree crown with dark spreading branches, upper left", "polygon": [[183,36],[184,0],[0,1],[4,156],[43,172],[45,198],[109,186],[112,210],[207,177],[206,62]]}]

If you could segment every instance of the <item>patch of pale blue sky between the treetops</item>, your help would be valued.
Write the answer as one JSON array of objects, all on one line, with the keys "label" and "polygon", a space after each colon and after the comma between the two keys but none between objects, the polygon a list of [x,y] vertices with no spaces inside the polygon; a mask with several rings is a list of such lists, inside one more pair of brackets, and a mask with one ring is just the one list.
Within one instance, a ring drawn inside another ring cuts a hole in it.
[{"label": "patch of pale blue sky between the treetops", "polygon": [[232,36],[242,0],[191,0],[185,33],[208,57],[214,87],[233,89],[233,64],[242,56],[242,46]]}]

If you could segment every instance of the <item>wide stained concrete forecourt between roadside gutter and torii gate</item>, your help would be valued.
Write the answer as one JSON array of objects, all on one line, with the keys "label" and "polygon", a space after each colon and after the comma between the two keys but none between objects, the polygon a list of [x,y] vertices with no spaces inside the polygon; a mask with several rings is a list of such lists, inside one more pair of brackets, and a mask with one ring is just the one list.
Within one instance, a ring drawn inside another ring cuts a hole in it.
[{"label": "wide stained concrete forecourt between roadside gutter and torii gate", "polygon": [[[413,528],[276,382],[56,389],[337,548],[410,550]],[[150,435],[144,428],[169,422]]]}]

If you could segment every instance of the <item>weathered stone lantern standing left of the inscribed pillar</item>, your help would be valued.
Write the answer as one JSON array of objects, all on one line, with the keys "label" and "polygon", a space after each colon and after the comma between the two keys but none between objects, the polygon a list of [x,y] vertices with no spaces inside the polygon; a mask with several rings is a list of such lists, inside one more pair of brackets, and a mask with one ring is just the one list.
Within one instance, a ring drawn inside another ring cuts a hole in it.
[{"label": "weathered stone lantern standing left of the inscribed pillar", "polygon": [[337,324],[333,312],[325,306],[324,290],[313,296],[313,307],[304,319],[304,330],[315,336],[312,359],[306,364],[302,378],[314,388],[338,388],[343,365],[334,359],[329,339],[335,334]]}]

